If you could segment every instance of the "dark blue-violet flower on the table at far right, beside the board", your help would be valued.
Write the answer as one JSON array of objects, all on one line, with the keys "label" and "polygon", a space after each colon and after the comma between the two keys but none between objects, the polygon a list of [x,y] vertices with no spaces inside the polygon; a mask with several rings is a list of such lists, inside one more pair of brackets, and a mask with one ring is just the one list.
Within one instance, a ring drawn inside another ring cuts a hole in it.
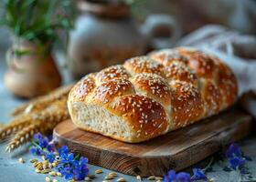
[{"label": "dark blue-violet flower on the table at far right, beside the board", "polygon": [[237,144],[231,144],[226,152],[229,160],[229,166],[233,169],[238,169],[244,166],[245,158],[242,156],[240,147]]}]

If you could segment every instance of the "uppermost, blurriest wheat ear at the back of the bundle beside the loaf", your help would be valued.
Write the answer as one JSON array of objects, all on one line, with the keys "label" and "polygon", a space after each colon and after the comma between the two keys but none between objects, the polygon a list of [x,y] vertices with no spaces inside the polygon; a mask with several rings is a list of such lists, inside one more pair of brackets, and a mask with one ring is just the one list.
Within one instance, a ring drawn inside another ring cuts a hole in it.
[{"label": "uppermost, blurriest wheat ear at the back of the bundle beside the loaf", "polygon": [[74,84],[61,86],[46,96],[38,96],[37,98],[29,101],[27,104],[17,107],[11,115],[18,116],[22,113],[31,113],[42,110],[49,106],[52,102],[59,100],[62,97],[68,97],[69,91],[73,86]]}]

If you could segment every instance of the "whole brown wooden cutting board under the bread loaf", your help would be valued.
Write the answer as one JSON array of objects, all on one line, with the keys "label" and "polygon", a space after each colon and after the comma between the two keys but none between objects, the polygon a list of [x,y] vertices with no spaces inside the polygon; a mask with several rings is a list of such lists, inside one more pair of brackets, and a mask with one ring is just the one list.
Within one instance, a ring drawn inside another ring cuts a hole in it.
[{"label": "whole brown wooden cutting board under the bread loaf", "polygon": [[168,169],[182,169],[217,152],[252,130],[251,116],[231,109],[192,126],[178,129],[140,144],[127,144],[86,132],[71,120],[56,126],[54,137],[89,163],[128,175],[163,176]]}]

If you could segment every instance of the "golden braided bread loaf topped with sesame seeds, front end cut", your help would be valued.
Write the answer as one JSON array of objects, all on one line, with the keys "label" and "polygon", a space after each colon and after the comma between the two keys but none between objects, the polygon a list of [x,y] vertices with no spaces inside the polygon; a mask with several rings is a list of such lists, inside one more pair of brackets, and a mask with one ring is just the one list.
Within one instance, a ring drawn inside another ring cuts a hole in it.
[{"label": "golden braided bread loaf topped with sesame seeds, front end cut", "polygon": [[76,126],[136,143],[218,114],[235,102],[237,89],[217,57],[181,47],[83,77],[68,106]]}]

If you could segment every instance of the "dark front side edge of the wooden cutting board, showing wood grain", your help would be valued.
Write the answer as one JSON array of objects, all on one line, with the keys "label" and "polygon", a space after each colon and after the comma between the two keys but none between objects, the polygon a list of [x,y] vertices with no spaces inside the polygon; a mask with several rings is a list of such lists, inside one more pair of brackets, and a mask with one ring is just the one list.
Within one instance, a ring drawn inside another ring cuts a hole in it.
[{"label": "dark front side edge of the wooden cutting board, showing wood grain", "polygon": [[[230,142],[237,141],[240,138],[247,136],[253,128],[251,122],[252,117],[246,116],[242,120],[242,122],[239,122],[240,126],[236,127],[235,129],[232,127],[227,128],[226,132],[232,133],[232,136],[235,136],[234,138],[227,138],[226,141],[221,142],[220,138],[223,135],[223,132],[221,132],[218,135],[208,138],[204,142],[198,143],[197,150],[193,150],[192,147],[190,151],[181,151],[172,157],[133,157],[113,151],[100,151],[98,148],[89,146],[81,146],[80,148],[75,149],[73,152],[88,157],[91,165],[109,168],[124,174],[132,176],[140,175],[141,177],[149,177],[152,175],[163,176],[170,168],[180,170],[194,165],[198,161],[219,151],[219,149],[222,147],[227,146]],[[59,140],[60,144],[65,144],[72,148],[72,144],[70,144],[69,140],[65,137],[59,136],[55,130],[53,136]],[[215,142],[212,142],[213,138],[213,141]],[[206,145],[208,147],[206,147]],[[193,153],[195,152],[201,152],[204,155],[199,155],[199,157],[195,158],[193,157]],[[187,160],[189,163],[184,162]]]}]

